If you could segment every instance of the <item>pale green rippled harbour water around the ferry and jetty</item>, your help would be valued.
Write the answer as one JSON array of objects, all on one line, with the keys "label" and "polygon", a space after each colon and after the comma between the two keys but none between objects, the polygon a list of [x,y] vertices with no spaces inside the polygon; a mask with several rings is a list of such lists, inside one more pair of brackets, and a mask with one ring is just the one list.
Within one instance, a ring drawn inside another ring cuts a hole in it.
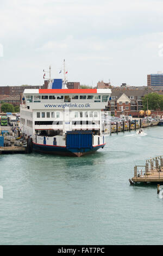
[{"label": "pale green rippled harbour water around the ferry and jetty", "polygon": [[128,181],[163,155],[162,129],[112,134],[83,157],[0,155],[1,245],[162,245],[156,185]]}]

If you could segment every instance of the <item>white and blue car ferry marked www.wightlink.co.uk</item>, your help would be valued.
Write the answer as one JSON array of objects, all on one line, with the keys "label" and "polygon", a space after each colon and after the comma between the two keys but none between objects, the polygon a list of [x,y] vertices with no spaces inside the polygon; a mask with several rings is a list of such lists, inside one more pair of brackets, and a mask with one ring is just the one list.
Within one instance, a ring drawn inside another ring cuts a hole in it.
[{"label": "white and blue car ferry marked www.wightlink.co.uk", "polygon": [[23,136],[34,151],[83,156],[105,146],[101,111],[110,89],[67,89],[61,79],[48,89],[25,89],[20,107]]}]

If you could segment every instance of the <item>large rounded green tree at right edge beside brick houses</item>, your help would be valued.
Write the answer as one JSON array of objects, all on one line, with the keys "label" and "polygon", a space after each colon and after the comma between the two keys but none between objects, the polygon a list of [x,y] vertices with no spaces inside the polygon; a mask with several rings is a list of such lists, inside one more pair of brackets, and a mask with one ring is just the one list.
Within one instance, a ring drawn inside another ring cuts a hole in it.
[{"label": "large rounded green tree at right edge beside brick houses", "polygon": [[163,95],[158,93],[149,93],[143,98],[143,110],[147,110],[147,98],[148,98],[148,109],[163,110]]}]

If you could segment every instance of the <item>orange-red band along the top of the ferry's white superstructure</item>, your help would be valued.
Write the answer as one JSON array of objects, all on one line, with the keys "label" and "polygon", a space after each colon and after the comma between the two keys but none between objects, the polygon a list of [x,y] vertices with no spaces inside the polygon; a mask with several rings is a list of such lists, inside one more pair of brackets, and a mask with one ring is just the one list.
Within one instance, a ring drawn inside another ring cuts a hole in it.
[{"label": "orange-red band along the top of the ferry's white superstructure", "polygon": [[55,94],[70,94],[70,93],[77,93],[77,94],[92,94],[97,93],[97,89],[39,89],[39,93],[48,94],[48,93],[55,93]]}]

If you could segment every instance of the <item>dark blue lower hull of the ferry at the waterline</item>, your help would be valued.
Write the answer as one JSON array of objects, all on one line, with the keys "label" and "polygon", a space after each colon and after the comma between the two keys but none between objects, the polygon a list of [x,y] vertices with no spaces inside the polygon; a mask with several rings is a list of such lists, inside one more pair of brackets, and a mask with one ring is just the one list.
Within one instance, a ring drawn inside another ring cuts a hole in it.
[{"label": "dark blue lower hull of the ferry at the waterline", "polygon": [[97,145],[96,147],[90,148],[66,148],[56,145],[43,145],[33,143],[33,150],[54,155],[64,155],[64,156],[83,156],[90,153],[95,153],[98,149],[103,148],[105,144]]}]

